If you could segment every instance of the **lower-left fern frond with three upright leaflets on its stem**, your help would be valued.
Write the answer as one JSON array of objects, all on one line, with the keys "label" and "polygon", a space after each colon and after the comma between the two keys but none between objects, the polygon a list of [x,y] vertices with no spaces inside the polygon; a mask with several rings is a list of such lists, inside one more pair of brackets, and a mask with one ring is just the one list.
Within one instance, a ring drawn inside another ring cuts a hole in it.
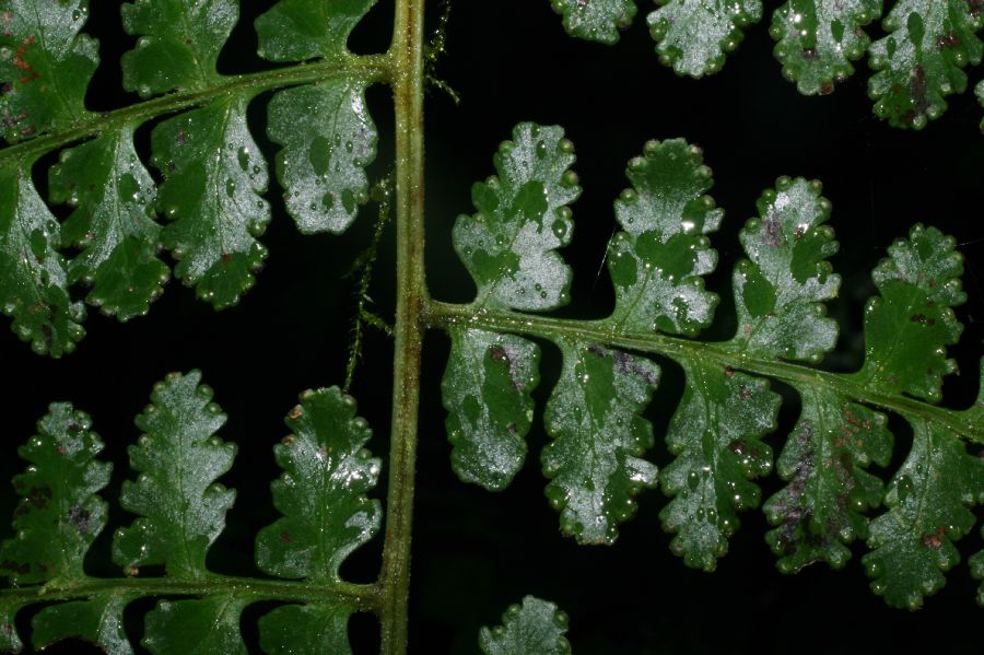
[{"label": "lower-left fern frond with three upright leaflets on its stem", "polygon": [[[379,473],[379,460],[363,447],[371,436],[365,420],[337,387],[302,395],[288,414],[293,434],[274,449],[284,473],[273,499],[284,517],[260,530],[256,546],[258,568],[283,580],[219,575],[206,555],[235,492],[215,479],[236,447],[215,434],[225,417],[200,377],[168,376],[137,419],[144,434],[129,454],[139,476],[124,482],[120,503],[141,516],[113,540],[113,560],[127,577],[86,574],[84,559],[106,525],[96,492],[112,467],[95,459],[103,444],[89,418],[51,405],[20,451],[31,466],[14,479],[22,495],[16,535],[0,545],[0,571],[14,585],[0,590],[0,651],[22,645],[17,611],[46,604],[32,619],[35,647],[81,638],[114,655],[132,653],[124,612],[134,600],[163,596],[145,617],[142,645],[153,653],[245,653],[243,610],[263,600],[289,604],[259,621],[267,653],[348,652],[349,617],[376,604],[374,587],[338,573],[380,524],[379,502],[365,495]],[[148,575],[154,564],[166,575]]]}]

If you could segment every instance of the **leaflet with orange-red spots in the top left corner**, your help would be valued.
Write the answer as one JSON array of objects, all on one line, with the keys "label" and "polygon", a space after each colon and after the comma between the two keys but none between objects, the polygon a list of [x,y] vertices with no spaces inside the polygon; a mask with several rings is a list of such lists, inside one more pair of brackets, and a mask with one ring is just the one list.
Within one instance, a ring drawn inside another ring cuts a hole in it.
[{"label": "leaflet with orange-red spots in the top left corner", "polygon": [[80,34],[86,0],[0,2],[0,136],[10,142],[86,117],[98,45]]}]

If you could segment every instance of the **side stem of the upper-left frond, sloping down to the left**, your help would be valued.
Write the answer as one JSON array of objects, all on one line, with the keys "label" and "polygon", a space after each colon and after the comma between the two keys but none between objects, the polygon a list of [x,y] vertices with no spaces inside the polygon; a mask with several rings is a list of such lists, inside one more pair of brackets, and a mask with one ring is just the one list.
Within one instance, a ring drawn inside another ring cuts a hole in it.
[{"label": "side stem of the upper-left frond, sloping down to the left", "polygon": [[271,89],[295,86],[331,78],[351,77],[366,82],[385,82],[391,78],[390,61],[386,55],[353,56],[342,62],[297,63],[258,73],[230,75],[222,83],[210,89],[178,91],[121,109],[91,114],[70,128],[4,148],[0,150],[0,159],[34,161],[47,152],[74,141],[112,132],[125,125],[140,124],[165,114],[206,105],[215,98],[229,95],[253,97]]}]

